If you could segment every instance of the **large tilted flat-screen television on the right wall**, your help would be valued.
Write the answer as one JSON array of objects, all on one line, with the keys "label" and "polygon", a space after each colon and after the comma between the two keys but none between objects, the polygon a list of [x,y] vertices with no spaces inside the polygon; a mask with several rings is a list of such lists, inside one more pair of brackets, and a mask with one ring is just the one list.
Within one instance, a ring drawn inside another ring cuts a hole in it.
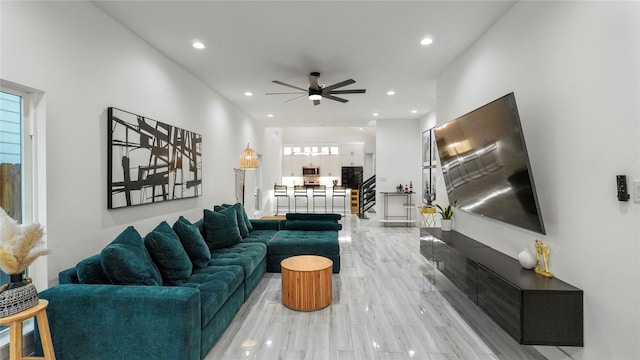
[{"label": "large tilted flat-screen television on the right wall", "polygon": [[434,129],[449,202],[545,234],[513,93]]}]

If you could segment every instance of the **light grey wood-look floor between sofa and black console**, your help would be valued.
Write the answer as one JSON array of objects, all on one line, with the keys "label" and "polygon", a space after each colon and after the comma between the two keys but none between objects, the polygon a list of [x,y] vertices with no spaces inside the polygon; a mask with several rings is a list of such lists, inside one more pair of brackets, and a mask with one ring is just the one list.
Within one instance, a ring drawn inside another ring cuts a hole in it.
[{"label": "light grey wood-look floor between sofa and black console", "polygon": [[382,227],[354,215],[341,222],[332,304],[289,310],[280,274],[267,273],[207,360],[545,359],[454,288],[445,299],[434,281],[441,289],[450,283],[420,254],[417,227]]}]

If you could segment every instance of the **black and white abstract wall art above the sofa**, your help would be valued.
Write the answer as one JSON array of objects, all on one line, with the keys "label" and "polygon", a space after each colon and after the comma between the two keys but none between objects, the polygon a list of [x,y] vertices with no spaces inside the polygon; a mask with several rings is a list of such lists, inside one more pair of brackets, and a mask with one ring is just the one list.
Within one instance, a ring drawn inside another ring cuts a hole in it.
[{"label": "black and white abstract wall art above the sofa", "polygon": [[202,136],[108,108],[107,207],[202,195]]}]

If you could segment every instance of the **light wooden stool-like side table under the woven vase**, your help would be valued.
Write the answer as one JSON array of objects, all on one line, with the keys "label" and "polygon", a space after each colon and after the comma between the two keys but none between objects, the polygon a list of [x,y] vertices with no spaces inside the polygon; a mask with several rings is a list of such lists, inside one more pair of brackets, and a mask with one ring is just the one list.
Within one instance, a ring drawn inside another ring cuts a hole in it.
[{"label": "light wooden stool-like side table under the woven vase", "polygon": [[[25,311],[21,311],[11,316],[0,318],[0,325],[9,326],[9,359],[10,360],[55,360],[56,354],[53,352],[53,342],[49,330],[49,320],[47,319],[47,306],[49,302],[40,299],[38,305]],[[38,319],[38,330],[40,330],[40,340],[42,341],[42,351],[44,357],[25,357],[22,349],[22,322],[28,318]]]}]

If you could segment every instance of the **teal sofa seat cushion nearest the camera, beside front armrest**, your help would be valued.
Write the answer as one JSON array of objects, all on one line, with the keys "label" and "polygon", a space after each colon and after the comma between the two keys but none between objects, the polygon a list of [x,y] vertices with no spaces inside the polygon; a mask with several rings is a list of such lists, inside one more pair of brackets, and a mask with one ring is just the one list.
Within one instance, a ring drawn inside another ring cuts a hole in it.
[{"label": "teal sofa seat cushion nearest the camera, beside front armrest", "polygon": [[194,270],[181,287],[200,290],[201,327],[211,321],[225,301],[242,286],[244,271],[240,266],[207,266]]}]

